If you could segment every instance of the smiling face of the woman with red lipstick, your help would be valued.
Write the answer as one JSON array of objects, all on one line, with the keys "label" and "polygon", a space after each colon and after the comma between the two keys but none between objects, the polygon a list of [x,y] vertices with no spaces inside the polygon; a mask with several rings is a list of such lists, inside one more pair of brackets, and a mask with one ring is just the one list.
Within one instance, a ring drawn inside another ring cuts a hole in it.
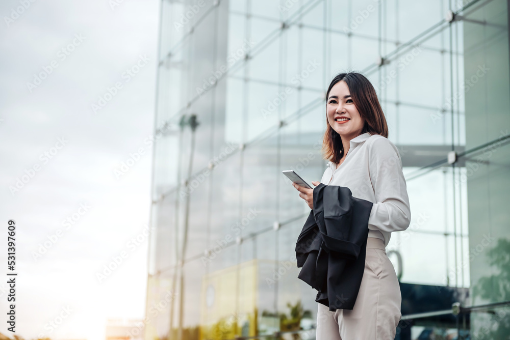
[{"label": "smiling face of the woman with red lipstick", "polygon": [[342,139],[351,140],[363,131],[365,120],[352,102],[349,87],[343,80],[337,82],[329,91],[326,117],[329,125]]}]

